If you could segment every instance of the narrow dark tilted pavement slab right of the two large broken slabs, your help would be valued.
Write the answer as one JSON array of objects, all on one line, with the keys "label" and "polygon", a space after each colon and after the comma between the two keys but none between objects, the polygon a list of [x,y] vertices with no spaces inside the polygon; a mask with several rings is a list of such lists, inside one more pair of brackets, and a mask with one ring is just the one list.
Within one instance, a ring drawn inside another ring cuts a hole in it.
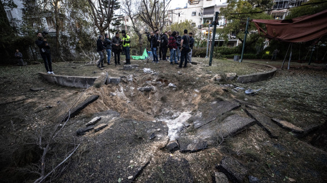
[{"label": "narrow dark tilted pavement slab right of the two large broken slabs", "polygon": [[263,128],[271,138],[279,136],[278,126],[271,121],[271,118],[253,110],[245,109],[246,114],[258,121],[258,125]]}]

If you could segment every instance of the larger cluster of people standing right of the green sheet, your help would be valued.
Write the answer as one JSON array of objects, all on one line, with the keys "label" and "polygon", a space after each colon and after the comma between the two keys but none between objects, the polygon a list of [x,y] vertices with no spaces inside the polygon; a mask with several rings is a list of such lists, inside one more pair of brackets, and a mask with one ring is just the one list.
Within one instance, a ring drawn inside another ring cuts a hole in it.
[{"label": "larger cluster of people standing right of the green sheet", "polygon": [[[184,35],[181,37],[179,32],[176,31],[166,31],[159,36],[159,31],[156,30],[147,34],[148,41],[151,46],[151,53],[153,55],[152,63],[158,63],[159,60],[166,61],[166,55],[168,48],[170,50],[170,64],[178,64],[177,61],[180,60],[179,67],[187,67],[188,62],[192,62],[192,49],[194,45],[193,34],[189,33],[188,30],[184,30]],[[159,59],[157,56],[157,49],[159,47]],[[174,61],[174,63],[173,63]]]}]

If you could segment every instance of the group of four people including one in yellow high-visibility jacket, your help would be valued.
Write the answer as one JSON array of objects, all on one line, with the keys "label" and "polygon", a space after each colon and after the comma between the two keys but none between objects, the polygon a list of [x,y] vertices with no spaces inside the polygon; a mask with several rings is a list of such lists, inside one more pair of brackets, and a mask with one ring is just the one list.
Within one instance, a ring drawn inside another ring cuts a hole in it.
[{"label": "group of four people including one in yellow high-visibility jacket", "polygon": [[[130,62],[130,37],[126,34],[126,31],[122,31],[123,37],[120,38],[119,32],[115,33],[115,36],[110,40],[109,35],[105,34],[105,39],[102,40],[102,36],[99,35],[97,40],[97,52],[100,55],[100,59],[97,62],[97,66],[99,68],[105,67],[104,66],[104,57],[103,53],[104,50],[107,52],[107,65],[110,64],[110,58],[111,58],[111,52],[114,55],[114,65],[121,65],[120,57],[122,50],[124,51],[125,57],[126,57],[126,63],[125,64],[131,64]],[[123,47],[123,48],[122,48]]]}]

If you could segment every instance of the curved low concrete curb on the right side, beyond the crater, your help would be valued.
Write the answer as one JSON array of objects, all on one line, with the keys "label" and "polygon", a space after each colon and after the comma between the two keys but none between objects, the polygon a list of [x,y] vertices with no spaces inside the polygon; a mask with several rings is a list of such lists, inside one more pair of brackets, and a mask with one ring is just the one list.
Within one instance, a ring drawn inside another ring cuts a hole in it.
[{"label": "curved low concrete curb on the right side, beyond the crater", "polygon": [[[256,64],[256,63],[253,63],[253,64]],[[270,70],[268,72],[260,72],[260,73],[256,73],[256,74],[250,74],[250,75],[240,75],[237,78],[236,82],[237,83],[254,83],[254,82],[268,80],[271,77],[273,77],[277,71],[276,67],[273,67],[271,65],[265,65],[265,64],[259,64],[259,65],[271,67],[272,70]]]}]

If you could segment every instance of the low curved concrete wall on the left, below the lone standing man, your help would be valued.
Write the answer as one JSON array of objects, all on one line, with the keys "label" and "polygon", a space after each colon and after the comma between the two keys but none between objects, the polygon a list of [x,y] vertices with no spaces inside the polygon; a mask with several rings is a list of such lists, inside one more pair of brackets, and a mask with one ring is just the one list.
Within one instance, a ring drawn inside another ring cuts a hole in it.
[{"label": "low curved concrete wall on the left, below the lone standing man", "polygon": [[48,82],[67,87],[87,88],[94,84],[97,77],[54,75],[39,72]]}]

